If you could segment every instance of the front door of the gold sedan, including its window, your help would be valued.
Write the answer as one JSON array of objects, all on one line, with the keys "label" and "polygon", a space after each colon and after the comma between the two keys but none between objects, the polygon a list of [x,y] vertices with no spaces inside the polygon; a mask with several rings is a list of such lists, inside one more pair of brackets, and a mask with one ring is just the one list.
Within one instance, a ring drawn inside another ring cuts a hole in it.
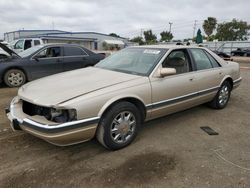
[{"label": "front door of the gold sedan, including its window", "polygon": [[152,104],[147,107],[152,109],[153,117],[160,117],[179,110],[194,106],[196,93],[199,86],[190,55],[186,49],[177,49],[163,61],[159,67],[175,68],[176,74],[164,78],[151,77]]}]

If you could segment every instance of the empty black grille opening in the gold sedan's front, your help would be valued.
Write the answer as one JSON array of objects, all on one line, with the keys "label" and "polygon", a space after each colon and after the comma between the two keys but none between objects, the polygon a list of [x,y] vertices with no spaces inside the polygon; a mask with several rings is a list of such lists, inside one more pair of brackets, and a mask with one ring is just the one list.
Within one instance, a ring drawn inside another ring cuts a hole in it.
[{"label": "empty black grille opening in the gold sedan's front", "polygon": [[50,117],[51,108],[38,106],[27,101],[23,101],[23,112],[30,116],[40,115]]}]

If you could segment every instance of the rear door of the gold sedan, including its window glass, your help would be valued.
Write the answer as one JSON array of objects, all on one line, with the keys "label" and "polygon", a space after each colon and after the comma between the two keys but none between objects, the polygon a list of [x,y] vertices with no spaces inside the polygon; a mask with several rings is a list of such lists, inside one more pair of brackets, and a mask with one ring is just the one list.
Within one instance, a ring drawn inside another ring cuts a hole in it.
[{"label": "rear door of the gold sedan, including its window glass", "polygon": [[201,100],[212,99],[217,93],[224,77],[219,63],[205,49],[189,49],[195,64],[195,75]]}]

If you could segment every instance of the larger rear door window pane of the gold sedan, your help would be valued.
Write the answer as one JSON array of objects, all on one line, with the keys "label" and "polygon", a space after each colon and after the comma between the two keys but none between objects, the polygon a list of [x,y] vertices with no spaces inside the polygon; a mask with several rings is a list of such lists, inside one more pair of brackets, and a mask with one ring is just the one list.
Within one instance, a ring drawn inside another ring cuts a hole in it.
[{"label": "larger rear door window pane of the gold sedan", "polygon": [[213,68],[208,56],[202,49],[190,49],[193,55],[197,70]]}]

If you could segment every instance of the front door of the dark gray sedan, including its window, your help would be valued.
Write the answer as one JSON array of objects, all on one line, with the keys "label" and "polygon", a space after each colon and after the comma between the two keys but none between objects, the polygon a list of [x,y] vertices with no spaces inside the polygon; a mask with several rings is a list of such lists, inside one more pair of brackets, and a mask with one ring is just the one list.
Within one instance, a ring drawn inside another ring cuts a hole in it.
[{"label": "front door of the dark gray sedan, including its window", "polygon": [[32,79],[63,72],[62,47],[49,46],[40,50],[30,60]]}]

